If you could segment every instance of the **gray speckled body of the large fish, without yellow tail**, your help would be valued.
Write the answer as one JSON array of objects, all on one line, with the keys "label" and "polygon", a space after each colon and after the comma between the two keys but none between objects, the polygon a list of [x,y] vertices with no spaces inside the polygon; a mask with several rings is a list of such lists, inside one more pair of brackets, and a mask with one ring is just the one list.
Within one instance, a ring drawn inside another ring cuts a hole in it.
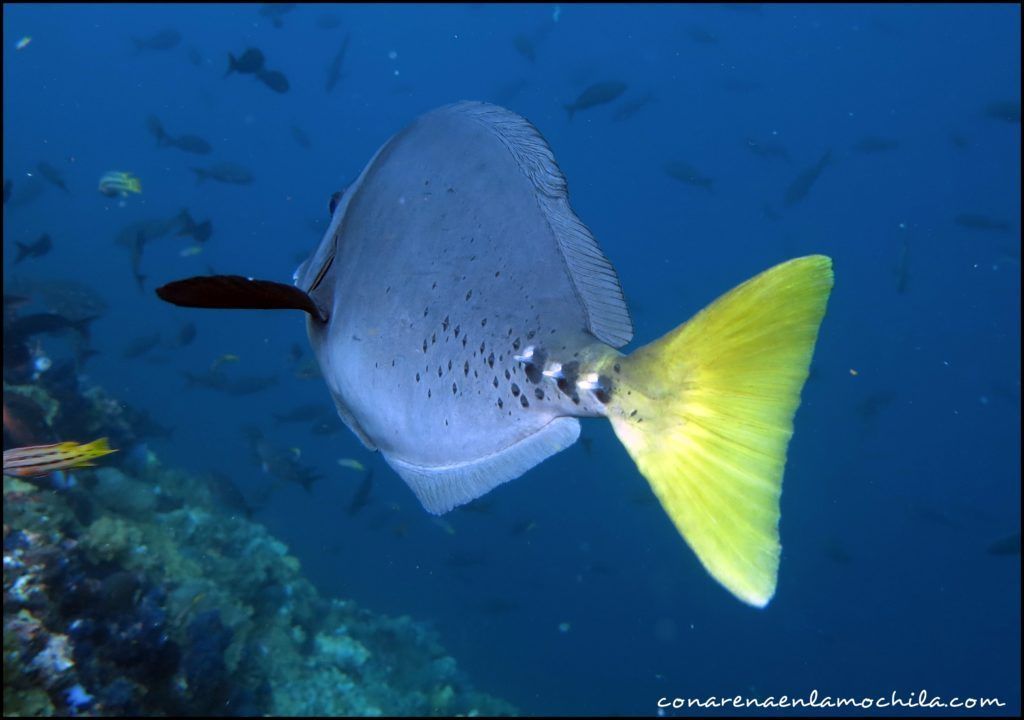
[{"label": "gray speckled body of the large fish, without yellow tail", "polygon": [[480,102],[385,143],[296,284],[330,313],[307,328],[342,420],[435,513],[571,444],[601,408],[542,369],[632,336],[547,143]]}]

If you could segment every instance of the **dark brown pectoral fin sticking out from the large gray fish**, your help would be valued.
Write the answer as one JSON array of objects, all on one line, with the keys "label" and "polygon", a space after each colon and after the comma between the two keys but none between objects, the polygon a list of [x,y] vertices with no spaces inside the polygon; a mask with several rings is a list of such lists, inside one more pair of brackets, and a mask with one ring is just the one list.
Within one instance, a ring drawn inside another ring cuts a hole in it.
[{"label": "dark brown pectoral fin sticking out from the large gray fish", "polygon": [[184,307],[252,310],[304,310],[327,322],[325,312],[305,292],[292,285],[242,276],[198,276],[157,288],[161,300]]}]

